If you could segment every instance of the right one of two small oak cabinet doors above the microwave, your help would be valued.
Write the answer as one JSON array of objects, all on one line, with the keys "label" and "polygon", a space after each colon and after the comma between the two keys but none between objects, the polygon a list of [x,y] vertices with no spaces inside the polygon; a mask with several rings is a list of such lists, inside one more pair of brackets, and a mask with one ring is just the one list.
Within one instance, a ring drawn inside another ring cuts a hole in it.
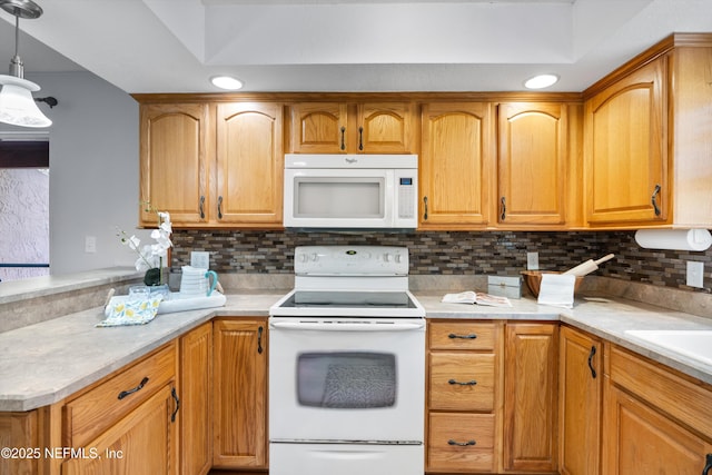
[{"label": "right one of two small oak cabinet doors above the microwave", "polygon": [[358,154],[409,154],[413,151],[413,103],[358,105]]}]

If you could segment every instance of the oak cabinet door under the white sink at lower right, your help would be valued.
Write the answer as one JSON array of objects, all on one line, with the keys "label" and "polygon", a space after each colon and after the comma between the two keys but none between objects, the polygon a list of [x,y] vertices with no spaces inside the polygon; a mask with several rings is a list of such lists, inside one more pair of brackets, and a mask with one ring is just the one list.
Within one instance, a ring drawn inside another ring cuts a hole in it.
[{"label": "oak cabinet door under the white sink at lower right", "polygon": [[700,475],[712,444],[606,384],[603,473]]}]

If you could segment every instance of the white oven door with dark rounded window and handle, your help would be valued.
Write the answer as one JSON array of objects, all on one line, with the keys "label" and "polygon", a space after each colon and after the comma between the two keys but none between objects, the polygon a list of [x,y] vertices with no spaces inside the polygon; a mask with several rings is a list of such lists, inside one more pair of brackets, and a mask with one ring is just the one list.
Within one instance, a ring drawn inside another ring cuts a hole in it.
[{"label": "white oven door with dark rounded window and handle", "polygon": [[271,442],[422,444],[425,319],[270,318]]}]

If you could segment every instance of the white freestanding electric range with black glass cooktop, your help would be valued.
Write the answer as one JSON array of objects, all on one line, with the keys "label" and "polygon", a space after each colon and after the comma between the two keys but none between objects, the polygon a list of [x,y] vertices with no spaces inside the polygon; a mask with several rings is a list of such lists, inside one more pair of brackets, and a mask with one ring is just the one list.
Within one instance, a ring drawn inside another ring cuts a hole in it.
[{"label": "white freestanding electric range with black glass cooktop", "polygon": [[306,246],[269,310],[270,475],[424,473],[425,310],[407,248]]}]

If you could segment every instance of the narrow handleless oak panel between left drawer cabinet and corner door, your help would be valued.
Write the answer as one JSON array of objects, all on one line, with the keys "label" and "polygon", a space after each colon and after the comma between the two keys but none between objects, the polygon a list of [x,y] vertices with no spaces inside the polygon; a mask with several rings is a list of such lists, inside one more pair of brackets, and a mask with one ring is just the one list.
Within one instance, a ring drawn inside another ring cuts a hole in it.
[{"label": "narrow handleless oak panel between left drawer cabinet and corner door", "polygon": [[212,465],[212,324],[180,338],[180,473],[205,475]]}]

